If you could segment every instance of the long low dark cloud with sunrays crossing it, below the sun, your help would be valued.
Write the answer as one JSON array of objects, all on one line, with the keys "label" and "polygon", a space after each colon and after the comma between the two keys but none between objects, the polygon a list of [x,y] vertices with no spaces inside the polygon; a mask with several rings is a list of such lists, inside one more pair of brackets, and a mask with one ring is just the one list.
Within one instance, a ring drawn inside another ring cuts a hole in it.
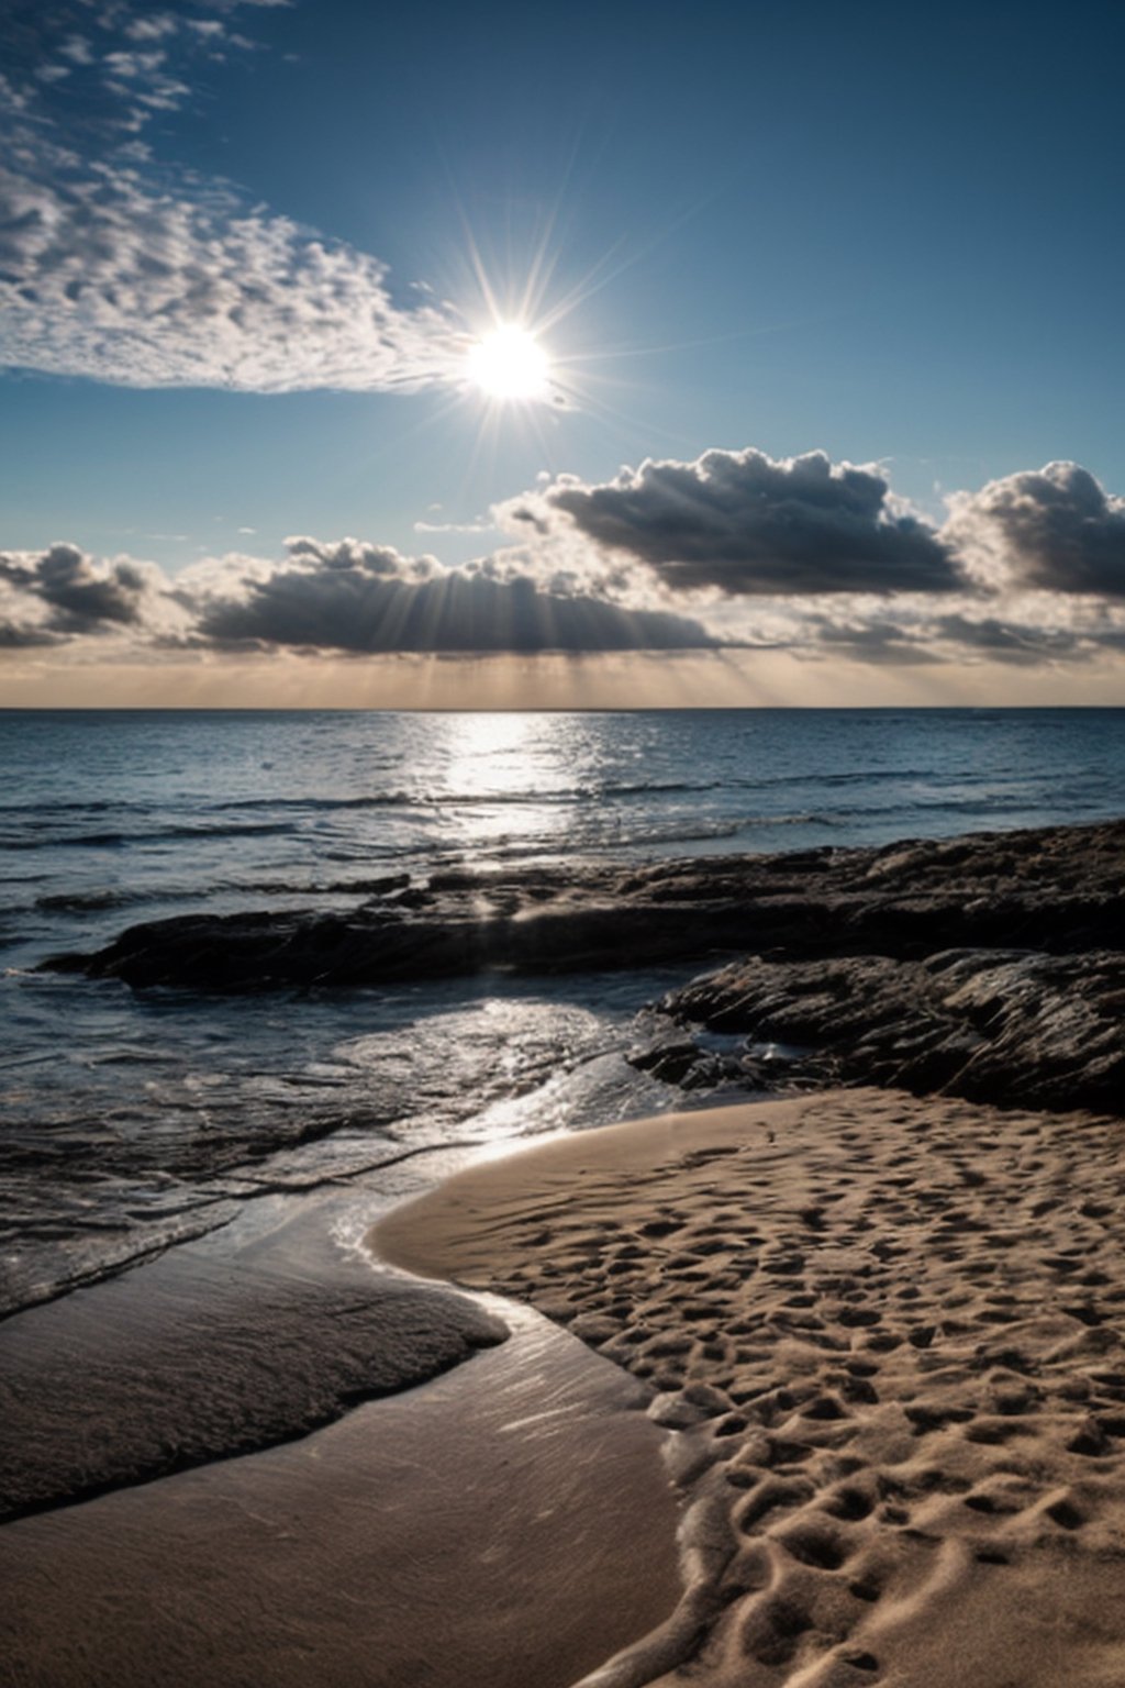
[{"label": "long low dark cloud with sunrays crossing it, below the sun", "polygon": [[[189,587],[191,589],[191,587]],[[391,653],[692,650],[715,640],[695,621],[555,594],[526,577],[445,571],[386,547],[293,540],[263,571],[231,559],[201,582],[196,638],[214,645]]]}]

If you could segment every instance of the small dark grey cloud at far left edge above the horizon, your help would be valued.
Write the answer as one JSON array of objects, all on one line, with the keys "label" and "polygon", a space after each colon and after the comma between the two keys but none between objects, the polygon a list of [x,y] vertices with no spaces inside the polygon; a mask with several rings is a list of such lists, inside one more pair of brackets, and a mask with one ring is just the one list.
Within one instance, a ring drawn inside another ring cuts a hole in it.
[{"label": "small dark grey cloud at far left edge above the horizon", "polygon": [[152,564],[132,559],[96,564],[78,545],[51,545],[39,554],[0,552],[0,579],[17,596],[34,601],[44,635],[140,626],[164,587]]}]

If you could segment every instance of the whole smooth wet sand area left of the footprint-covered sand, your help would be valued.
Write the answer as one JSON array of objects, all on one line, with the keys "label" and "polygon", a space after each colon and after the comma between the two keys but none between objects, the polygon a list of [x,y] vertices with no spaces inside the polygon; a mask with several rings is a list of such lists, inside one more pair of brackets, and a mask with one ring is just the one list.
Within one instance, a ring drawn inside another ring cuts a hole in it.
[{"label": "whole smooth wet sand area left of the footprint-covered sand", "polygon": [[[56,1499],[0,1529],[5,1683],[570,1688],[675,1609],[668,1436],[575,1337],[341,1256],[324,1204],[162,1264],[8,1325],[22,1480]],[[437,1371],[496,1312],[509,1339],[425,1386],[214,1457],[248,1403],[342,1411],[373,1352]],[[211,1463],[140,1480],[192,1436]],[[91,1479],[118,1487],[67,1504]]]}]

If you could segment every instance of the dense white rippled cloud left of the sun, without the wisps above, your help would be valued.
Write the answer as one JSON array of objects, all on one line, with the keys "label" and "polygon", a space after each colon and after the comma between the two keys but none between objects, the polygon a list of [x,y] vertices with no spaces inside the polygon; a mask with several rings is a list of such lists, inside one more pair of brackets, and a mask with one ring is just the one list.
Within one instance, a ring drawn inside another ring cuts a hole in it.
[{"label": "dense white rippled cloud left of the sun, without the wisps above", "polygon": [[123,387],[417,390],[462,336],[373,257],[287,218],[24,149],[0,170],[0,361]]}]

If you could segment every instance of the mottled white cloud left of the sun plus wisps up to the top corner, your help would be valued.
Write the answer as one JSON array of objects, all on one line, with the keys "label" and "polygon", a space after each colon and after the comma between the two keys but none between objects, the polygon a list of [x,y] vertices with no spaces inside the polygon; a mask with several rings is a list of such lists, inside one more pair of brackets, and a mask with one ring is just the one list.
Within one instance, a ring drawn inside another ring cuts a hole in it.
[{"label": "mottled white cloud left of the sun plus wisps up to the top corner", "polygon": [[[445,306],[398,304],[376,257],[157,167],[137,138],[189,100],[184,74],[214,51],[191,27],[206,17],[78,0],[17,12],[0,88],[0,365],[261,393],[459,380],[467,339]],[[39,76],[52,66],[61,91]]]}]

